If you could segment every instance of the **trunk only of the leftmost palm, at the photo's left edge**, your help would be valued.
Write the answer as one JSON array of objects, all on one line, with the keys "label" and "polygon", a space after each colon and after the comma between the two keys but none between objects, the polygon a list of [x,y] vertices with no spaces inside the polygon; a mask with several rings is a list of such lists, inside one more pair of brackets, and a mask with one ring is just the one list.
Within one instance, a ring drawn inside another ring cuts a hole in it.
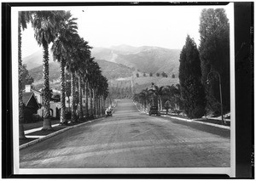
[{"label": "trunk only of the leftmost palm, at the photo's left edge", "polygon": [[19,139],[26,139],[24,133],[24,112],[23,112],[23,99],[22,99],[22,59],[21,59],[21,28],[20,28],[20,15],[19,15],[19,30],[18,30],[18,53],[19,53]]}]

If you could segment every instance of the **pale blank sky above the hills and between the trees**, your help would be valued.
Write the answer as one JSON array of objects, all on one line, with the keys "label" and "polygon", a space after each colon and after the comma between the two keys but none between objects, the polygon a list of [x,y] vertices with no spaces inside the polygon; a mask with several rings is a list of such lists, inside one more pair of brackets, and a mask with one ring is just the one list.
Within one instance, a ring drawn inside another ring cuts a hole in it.
[{"label": "pale blank sky above the hills and between the trees", "polygon": [[[78,18],[79,35],[92,47],[119,44],[183,48],[189,34],[199,44],[200,14],[204,6],[123,6],[76,7],[71,10]],[[225,7],[218,7],[225,8]],[[226,10],[229,17],[229,9]],[[40,47],[34,32],[22,32],[22,57],[33,54]]]}]

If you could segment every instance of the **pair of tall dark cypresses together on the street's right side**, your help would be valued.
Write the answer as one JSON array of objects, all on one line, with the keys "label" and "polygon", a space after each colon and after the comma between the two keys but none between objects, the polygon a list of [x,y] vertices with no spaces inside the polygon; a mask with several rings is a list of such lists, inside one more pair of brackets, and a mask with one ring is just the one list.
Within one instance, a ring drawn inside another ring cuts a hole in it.
[{"label": "pair of tall dark cypresses together on the street's right side", "polygon": [[[186,38],[180,54],[179,81],[185,113],[198,118],[230,110],[230,26],[223,8],[203,9],[200,47]],[[220,89],[220,80],[224,82]]]}]

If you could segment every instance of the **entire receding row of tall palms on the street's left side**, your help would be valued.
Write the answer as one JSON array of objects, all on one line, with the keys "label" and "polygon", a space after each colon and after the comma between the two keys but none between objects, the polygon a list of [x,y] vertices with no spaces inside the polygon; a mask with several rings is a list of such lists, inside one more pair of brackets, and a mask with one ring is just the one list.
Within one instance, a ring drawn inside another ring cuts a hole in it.
[{"label": "entire receding row of tall palms on the street's left side", "polygon": [[[78,26],[69,11],[20,11],[19,12],[19,119],[20,138],[25,138],[23,125],[23,102],[22,102],[22,60],[21,60],[21,28],[31,23],[34,29],[34,37],[38,45],[43,47],[43,98],[44,98],[44,126],[43,130],[51,129],[49,114],[49,44],[52,43],[51,51],[53,58],[60,62],[61,70],[61,124],[66,124],[66,78],[65,71],[71,75],[71,97],[72,97],[72,118],[71,122],[76,122],[78,116],[84,116],[82,105],[82,87],[86,91],[86,100],[90,91],[90,113],[88,111],[88,101],[85,104],[85,114],[100,115],[104,109],[104,101],[108,96],[108,80],[102,76],[99,65],[90,54],[90,46],[84,38],[79,37]],[[75,80],[78,80],[79,106],[75,107]],[[84,86],[83,86],[84,85]],[[77,110],[76,110],[77,109]],[[78,112],[78,114],[77,114]]]}]

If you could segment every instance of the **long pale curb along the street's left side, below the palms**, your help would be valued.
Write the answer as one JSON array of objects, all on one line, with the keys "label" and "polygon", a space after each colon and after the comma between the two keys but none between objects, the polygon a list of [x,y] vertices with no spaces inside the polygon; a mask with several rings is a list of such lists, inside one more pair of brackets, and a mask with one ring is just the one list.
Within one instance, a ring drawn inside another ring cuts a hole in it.
[{"label": "long pale curb along the street's left side, below the palms", "polygon": [[28,142],[28,143],[26,143],[26,144],[21,144],[21,145],[19,146],[19,149],[20,149],[20,150],[21,150],[21,149],[25,149],[25,148],[28,147],[28,146],[31,146],[31,145],[33,145],[33,144],[37,144],[37,143],[39,143],[39,142],[41,142],[41,141],[44,141],[45,139],[49,139],[49,138],[51,138],[51,137],[54,137],[55,135],[57,135],[57,134],[59,134],[59,133],[63,133],[63,132],[65,132],[65,131],[67,131],[68,129],[72,129],[72,128],[74,128],[74,127],[83,126],[84,124],[87,124],[87,123],[90,123],[90,122],[95,122],[95,121],[98,121],[99,119],[102,119],[102,118],[103,118],[103,117],[100,117],[100,118],[97,118],[97,119],[95,119],[95,120],[91,120],[91,121],[88,121],[88,122],[83,122],[83,123],[81,123],[81,124],[73,125],[73,126],[71,126],[71,127],[63,128],[63,129],[61,129],[61,130],[59,130],[59,131],[56,131],[55,133],[50,133],[50,134],[44,136],[43,138],[35,139],[35,140],[33,140],[33,141],[31,141],[31,142]]}]

